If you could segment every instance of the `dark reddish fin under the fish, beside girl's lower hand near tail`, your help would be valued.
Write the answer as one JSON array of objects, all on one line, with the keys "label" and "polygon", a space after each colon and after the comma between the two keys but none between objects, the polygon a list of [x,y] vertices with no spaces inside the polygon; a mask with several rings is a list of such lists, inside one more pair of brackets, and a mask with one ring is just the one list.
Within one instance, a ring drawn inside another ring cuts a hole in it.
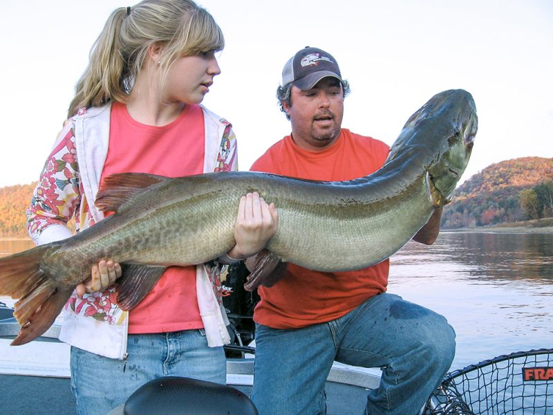
[{"label": "dark reddish fin under the fish, beside girl's lower hand near tail", "polygon": [[123,264],[122,276],[115,282],[117,302],[123,310],[131,310],[142,301],[159,281],[165,266]]}]

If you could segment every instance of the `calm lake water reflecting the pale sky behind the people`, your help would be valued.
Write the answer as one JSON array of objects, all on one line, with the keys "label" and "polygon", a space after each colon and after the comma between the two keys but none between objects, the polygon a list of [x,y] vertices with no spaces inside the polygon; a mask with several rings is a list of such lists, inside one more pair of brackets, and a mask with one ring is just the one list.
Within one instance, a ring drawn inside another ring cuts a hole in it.
[{"label": "calm lake water reflecting the pale sky behind the people", "polygon": [[[30,247],[0,240],[0,257]],[[391,259],[388,291],[447,317],[457,333],[451,369],[553,347],[553,234],[442,232],[432,246],[410,242]]]}]

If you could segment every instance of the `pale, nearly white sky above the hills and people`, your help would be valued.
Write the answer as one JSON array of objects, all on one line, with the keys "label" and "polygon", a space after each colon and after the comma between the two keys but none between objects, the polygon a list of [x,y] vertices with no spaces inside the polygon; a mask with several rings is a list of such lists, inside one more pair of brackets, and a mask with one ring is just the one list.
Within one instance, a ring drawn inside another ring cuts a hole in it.
[{"label": "pale, nearly white sky above the hills and people", "polygon": [[[352,93],[343,127],[391,144],[435,93],[466,89],[479,129],[462,180],[553,157],[553,1],[204,0],[226,47],[204,104],[232,122],[240,169],[290,133],[275,91],[303,46],[327,50]],[[75,82],[118,1],[1,1],[0,187],[37,180]]]}]

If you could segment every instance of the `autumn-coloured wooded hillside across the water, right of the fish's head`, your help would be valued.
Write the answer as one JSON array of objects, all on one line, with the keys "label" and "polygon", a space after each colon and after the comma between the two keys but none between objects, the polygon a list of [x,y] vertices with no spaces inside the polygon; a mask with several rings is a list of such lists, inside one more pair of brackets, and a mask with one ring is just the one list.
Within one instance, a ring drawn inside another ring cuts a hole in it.
[{"label": "autumn-coloured wooded hillside across the water, right of the fish's head", "polygon": [[521,204],[521,190],[534,191],[537,187],[539,196],[543,183],[545,191],[551,192],[553,158],[522,157],[489,165],[457,188],[453,202],[444,208],[442,228],[471,228],[537,219],[543,217],[544,212],[550,216],[547,206],[545,210],[540,206],[540,216],[529,217],[527,206]]}]

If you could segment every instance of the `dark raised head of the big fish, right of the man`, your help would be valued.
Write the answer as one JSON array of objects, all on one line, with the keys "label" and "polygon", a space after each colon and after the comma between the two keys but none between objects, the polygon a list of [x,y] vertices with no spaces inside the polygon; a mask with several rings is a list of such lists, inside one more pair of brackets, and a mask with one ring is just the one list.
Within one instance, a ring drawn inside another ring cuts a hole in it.
[{"label": "dark raised head of the big fish, right of the man", "polygon": [[451,201],[469,163],[477,129],[471,94],[462,89],[443,91],[409,118],[391,148],[391,157],[397,148],[398,153],[422,160],[431,201],[443,206]]}]

